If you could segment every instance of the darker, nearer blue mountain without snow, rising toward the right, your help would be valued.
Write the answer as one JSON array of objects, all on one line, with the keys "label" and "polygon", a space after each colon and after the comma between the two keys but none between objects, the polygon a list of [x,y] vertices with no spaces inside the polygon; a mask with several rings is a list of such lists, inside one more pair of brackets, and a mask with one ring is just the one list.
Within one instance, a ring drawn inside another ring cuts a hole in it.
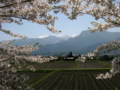
[{"label": "darker, nearer blue mountain without snow, rising toward the right", "polygon": [[97,48],[100,44],[113,40],[120,40],[120,32],[95,32],[83,31],[78,36],[68,40],[62,40],[55,44],[47,44],[32,54],[86,54]]}]

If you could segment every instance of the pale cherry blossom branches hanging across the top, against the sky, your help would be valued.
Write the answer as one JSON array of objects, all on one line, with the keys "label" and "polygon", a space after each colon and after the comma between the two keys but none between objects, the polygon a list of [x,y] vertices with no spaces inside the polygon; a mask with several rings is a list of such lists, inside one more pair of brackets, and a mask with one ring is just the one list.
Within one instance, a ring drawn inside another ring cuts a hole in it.
[{"label": "pale cherry blossom branches hanging across the top, against the sky", "polygon": [[[59,31],[54,29],[54,23],[58,18],[51,15],[51,12],[63,13],[71,20],[77,19],[79,15],[88,14],[96,20],[105,21],[105,23],[92,22],[94,28],[89,27],[91,32],[120,26],[119,5],[116,0],[1,0],[0,2],[1,23],[14,22],[21,25],[24,19],[45,25],[47,29],[57,33]],[[8,30],[0,29],[0,31],[14,37],[25,38]]]}]

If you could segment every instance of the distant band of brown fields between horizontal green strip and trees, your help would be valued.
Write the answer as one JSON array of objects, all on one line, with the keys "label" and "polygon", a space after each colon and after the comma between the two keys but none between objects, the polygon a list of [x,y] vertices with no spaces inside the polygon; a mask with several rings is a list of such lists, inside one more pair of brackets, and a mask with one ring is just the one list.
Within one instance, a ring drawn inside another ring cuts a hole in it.
[{"label": "distant band of brown fields between horizontal green strip and trees", "polygon": [[[23,69],[26,69],[28,65],[33,65],[36,69],[81,69],[81,68],[109,68],[111,62],[104,62],[106,65],[98,63],[97,61],[75,62],[75,61],[55,61],[46,63],[27,63],[23,65]],[[107,66],[108,65],[108,66]],[[14,66],[14,65],[13,65]]]}]

